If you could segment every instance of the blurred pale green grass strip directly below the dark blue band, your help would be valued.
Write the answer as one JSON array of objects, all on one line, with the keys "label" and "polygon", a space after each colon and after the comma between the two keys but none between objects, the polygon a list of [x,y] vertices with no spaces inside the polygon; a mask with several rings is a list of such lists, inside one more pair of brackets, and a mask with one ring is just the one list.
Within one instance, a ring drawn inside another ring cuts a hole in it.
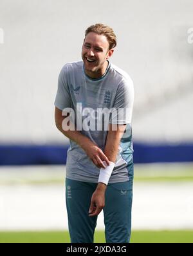
[{"label": "blurred pale green grass strip directly below the dark blue band", "polygon": [[[30,166],[1,167],[0,186],[6,185],[64,185],[66,167]],[[134,182],[193,182],[193,164],[135,164]]]}]

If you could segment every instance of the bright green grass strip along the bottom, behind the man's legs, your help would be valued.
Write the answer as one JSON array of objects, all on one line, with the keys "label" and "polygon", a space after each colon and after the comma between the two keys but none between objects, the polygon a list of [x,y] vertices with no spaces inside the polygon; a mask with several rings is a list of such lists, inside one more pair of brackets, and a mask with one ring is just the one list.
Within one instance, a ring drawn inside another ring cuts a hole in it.
[{"label": "bright green grass strip along the bottom, behind the man's legs", "polygon": [[[1,231],[0,243],[67,243],[68,231]],[[104,231],[95,232],[95,243],[106,242]],[[193,230],[133,231],[131,243],[193,243]]]}]

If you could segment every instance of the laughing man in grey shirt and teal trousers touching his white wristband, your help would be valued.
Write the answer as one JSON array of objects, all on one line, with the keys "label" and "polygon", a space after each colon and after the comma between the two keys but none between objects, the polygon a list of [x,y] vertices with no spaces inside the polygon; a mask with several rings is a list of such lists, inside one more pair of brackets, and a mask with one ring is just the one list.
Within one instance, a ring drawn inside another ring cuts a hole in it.
[{"label": "laughing man in grey shirt and teal trousers touching his white wristband", "polygon": [[83,61],[64,65],[59,75],[55,123],[70,139],[66,206],[71,242],[93,242],[102,209],[106,242],[129,242],[131,236],[133,81],[109,62],[115,47],[112,28],[92,25],[82,45]]}]

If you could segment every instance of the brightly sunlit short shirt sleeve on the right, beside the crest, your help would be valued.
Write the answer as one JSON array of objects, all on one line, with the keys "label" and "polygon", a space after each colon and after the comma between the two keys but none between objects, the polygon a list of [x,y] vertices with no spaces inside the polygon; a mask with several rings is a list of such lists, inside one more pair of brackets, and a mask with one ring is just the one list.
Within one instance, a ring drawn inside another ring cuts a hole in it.
[{"label": "brightly sunlit short shirt sleeve on the right, beside the crest", "polygon": [[131,78],[124,78],[118,85],[109,123],[120,125],[131,123],[133,101],[133,81]]}]

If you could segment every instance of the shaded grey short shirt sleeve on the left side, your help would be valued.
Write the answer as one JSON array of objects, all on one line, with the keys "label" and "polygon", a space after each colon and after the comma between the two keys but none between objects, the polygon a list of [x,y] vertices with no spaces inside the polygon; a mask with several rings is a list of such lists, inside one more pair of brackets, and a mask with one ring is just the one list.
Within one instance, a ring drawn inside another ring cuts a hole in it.
[{"label": "shaded grey short shirt sleeve on the left side", "polygon": [[71,107],[71,97],[69,94],[68,82],[67,82],[67,66],[64,65],[59,74],[58,89],[55,97],[54,105],[60,110],[66,107]]}]

